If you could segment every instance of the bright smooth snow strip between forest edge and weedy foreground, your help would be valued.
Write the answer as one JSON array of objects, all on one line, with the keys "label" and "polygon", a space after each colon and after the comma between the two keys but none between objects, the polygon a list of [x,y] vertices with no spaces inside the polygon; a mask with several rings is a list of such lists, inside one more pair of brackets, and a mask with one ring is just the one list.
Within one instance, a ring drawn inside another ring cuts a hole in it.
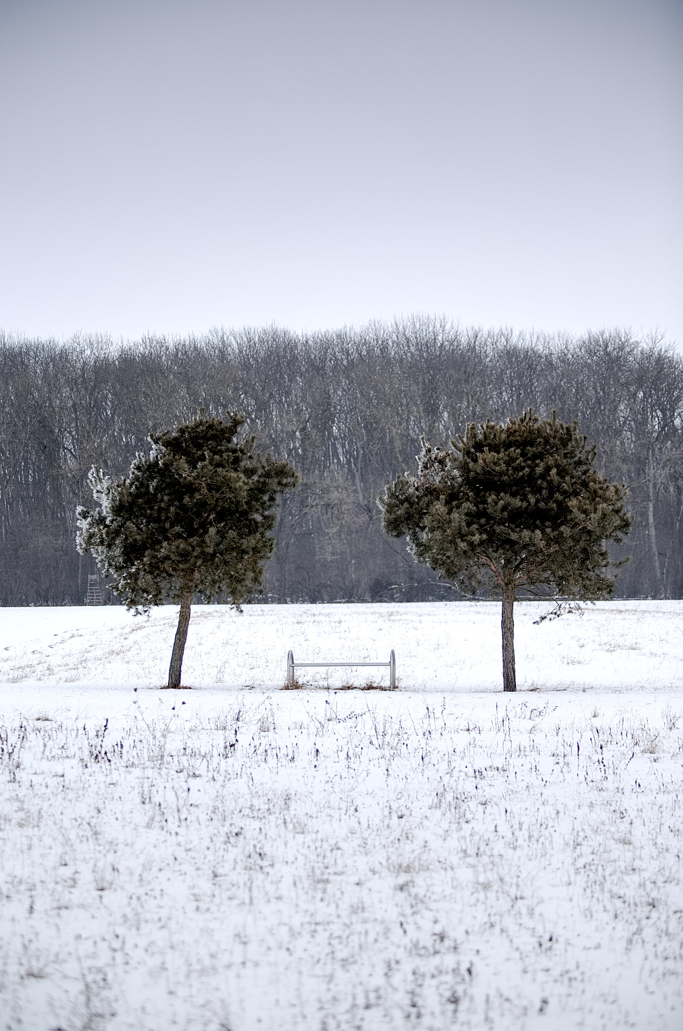
[{"label": "bright smooth snow strip between forest edge and weedy foreground", "polygon": [[[515,606],[519,689],[681,688],[683,602],[602,603],[588,606],[582,618],[534,626],[548,607]],[[109,688],[118,698],[122,689],[163,685],[176,623],[172,606],[153,609],[148,619],[123,607],[2,608],[0,684],[22,684],[24,691],[40,685],[41,699],[52,698],[45,689],[59,685],[59,705],[66,699],[89,705],[93,687]],[[296,659],[313,662],[386,662],[394,647],[403,690],[499,691],[500,628],[498,602],[247,605],[243,614],[226,605],[198,605],[182,681],[271,691],[285,680],[289,648]],[[329,677],[322,671],[306,679],[334,686],[346,675],[330,670]]]}]

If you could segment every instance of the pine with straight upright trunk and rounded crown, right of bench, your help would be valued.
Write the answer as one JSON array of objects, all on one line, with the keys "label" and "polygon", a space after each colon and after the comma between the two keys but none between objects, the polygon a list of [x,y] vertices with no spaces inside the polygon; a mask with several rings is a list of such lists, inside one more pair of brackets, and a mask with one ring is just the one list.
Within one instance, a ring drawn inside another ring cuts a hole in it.
[{"label": "pine with straight upright trunk and rounded crown, right of bench", "polygon": [[503,426],[471,423],[450,448],[422,439],[417,475],[398,476],[379,499],[383,529],[407,535],[416,561],[467,593],[502,594],[504,691],[516,691],[520,592],[596,600],[614,590],[606,542],[621,542],[631,518],[625,487],[594,459],[576,423],[530,409]]}]

